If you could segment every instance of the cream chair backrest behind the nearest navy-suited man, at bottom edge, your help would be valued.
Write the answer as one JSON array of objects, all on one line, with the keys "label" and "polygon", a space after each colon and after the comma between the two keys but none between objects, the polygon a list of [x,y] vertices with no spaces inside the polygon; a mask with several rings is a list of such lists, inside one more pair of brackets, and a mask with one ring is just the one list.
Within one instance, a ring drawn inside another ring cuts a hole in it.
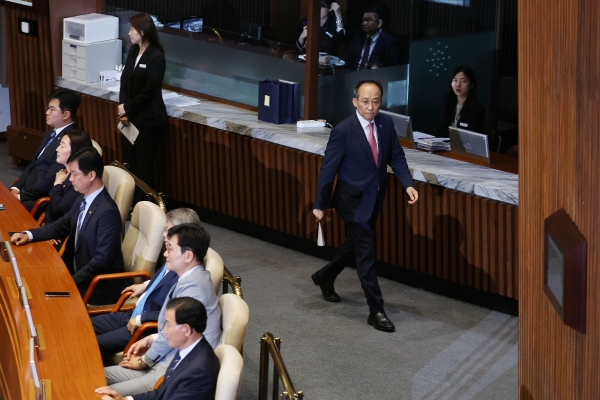
[{"label": "cream chair backrest behind the nearest navy-suited man, at bottom edge", "polygon": [[228,344],[217,346],[215,354],[221,364],[217,378],[215,400],[235,400],[242,387],[244,359],[235,347]]}]

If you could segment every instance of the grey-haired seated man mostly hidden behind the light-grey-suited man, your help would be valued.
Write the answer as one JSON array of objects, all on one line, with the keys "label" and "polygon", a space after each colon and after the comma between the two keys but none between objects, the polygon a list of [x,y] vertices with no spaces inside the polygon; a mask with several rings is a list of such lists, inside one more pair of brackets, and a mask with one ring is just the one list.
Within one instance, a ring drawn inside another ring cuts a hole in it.
[{"label": "grey-haired seated man mostly hidden behind the light-grey-suited man", "polygon": [[[176,225],[200,225],[200,217],[190,208],[171,210],[166,217],[167,223],[163,232],[165,239],[167,231]],[[108,355],[122,351],[139,326],[144,322],[158,321],[165,298],[176,282],[177,274],[163,265],[151,280],[131,285],[123,290],[123,292],[132,290],[131,297],[139,297],[134,309],[92,317],[92,326],[100,346],[100,353]]]}]

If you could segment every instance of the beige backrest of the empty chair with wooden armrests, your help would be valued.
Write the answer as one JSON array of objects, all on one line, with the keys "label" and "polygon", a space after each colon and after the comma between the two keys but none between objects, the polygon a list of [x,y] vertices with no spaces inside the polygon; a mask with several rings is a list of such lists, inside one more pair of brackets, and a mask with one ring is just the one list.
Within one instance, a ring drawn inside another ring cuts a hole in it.
[{"label": "beige backrest of the empty chair with wooden armrests", "polygon": [[154,274],[156,260],[164,239],[167,219],[154,203],[140,201],[131,214],[131,223],[121,244],[125,271],[147,271]]}]

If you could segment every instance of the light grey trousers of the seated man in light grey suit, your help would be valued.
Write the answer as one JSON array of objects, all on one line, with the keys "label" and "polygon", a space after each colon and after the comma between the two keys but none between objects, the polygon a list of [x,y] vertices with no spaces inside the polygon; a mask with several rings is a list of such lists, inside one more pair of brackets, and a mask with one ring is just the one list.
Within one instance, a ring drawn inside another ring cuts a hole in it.
[{"label": "light grey trousers of the seated man in light grey suit", "polygon": [[[175,352],[171,352],[175,355]],[[172,359],[173,357],[171,357]],[[118,365],[104,368],[106,383],[111,389],[116,390],[121,396],[133,396],[152,390],[156,381],[165,374],[169,362],[155,364],[150,369],[136,371]]]}]

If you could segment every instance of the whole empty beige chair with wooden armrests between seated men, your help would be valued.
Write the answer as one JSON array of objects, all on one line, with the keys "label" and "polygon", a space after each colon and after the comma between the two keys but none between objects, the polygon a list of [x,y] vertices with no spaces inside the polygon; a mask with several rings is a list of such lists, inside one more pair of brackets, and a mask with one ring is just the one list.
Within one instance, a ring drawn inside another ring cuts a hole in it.
[{"label": "whole empty beige chair with wooden armrests between seated men", "polygon": [[[87,300],[92,290],[97,285],[96,281],[111,279],[135,279],[140,283],[149,279],[156,267],[156,260],[164,242],[162,233],[166,224],[165,213],[156,204],[149,201],[140,201],[133,209],[131,224],[121,244],[124,273],[98,275],[92,280],[88,292],[84,296]],[[96,282],[96,283],[95,283]],[[123,296],[122,296],[123,298]],[[128,300],[126,305],[135,306],[137,299]],[[131,304],[130,304],[131,303]],[[86,303],[87,304],[87,303]],[[90,314],[108,312],[111,305],[90,306]]]}]

